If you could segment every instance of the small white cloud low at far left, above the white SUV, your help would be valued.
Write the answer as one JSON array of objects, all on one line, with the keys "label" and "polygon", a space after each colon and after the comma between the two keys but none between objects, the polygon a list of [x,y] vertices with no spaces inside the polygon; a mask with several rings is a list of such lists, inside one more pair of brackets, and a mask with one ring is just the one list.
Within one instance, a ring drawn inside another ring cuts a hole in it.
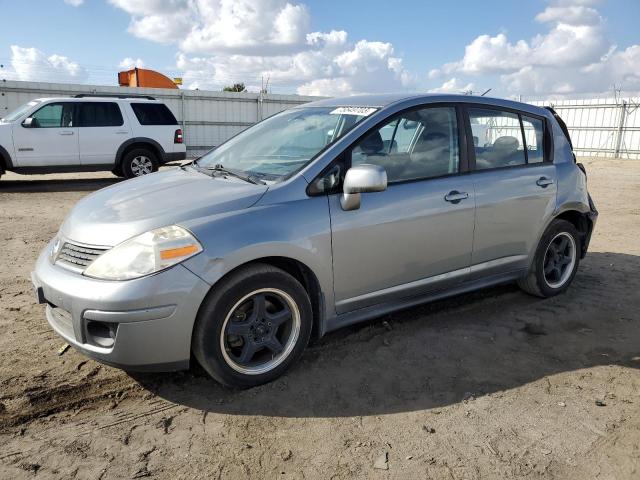
[{"label": "small white cloud low at far left, above the white SUV", "polygon": [[82,83],[87,71],[62,55],[47,56],[36,48],[11,45],[11,69],[7,78],[13,80]]}]

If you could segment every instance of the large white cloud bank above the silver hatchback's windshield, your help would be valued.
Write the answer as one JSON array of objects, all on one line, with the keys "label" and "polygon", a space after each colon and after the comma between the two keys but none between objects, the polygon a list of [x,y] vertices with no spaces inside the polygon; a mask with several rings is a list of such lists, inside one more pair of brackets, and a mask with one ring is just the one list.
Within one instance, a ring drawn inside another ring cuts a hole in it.
[{"label": "large white cloud bank above the silver hatchback's windshield", "polygon": [[178,47],[176,66],[187,88],[244,82],[256,90],[264,77],[282,90],[333,95],[398,90],[415,81],[390,43],[311,31],[308,8],[293,0],[110,2],[131,15],[132,34]]}]

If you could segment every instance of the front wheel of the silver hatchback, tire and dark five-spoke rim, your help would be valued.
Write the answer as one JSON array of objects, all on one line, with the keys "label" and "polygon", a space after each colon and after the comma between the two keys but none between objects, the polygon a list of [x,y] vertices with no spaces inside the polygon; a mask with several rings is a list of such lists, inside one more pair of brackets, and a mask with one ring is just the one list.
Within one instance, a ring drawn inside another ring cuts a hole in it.
[{"label": "front wheel of the silver hatchback, tire and dark five-spoke rim", "polygon": [[307,346],[313,314],[303,286],[271,265],[241,268],[200,307],[193,353],[220,383],[253,387],[282,375]]}]

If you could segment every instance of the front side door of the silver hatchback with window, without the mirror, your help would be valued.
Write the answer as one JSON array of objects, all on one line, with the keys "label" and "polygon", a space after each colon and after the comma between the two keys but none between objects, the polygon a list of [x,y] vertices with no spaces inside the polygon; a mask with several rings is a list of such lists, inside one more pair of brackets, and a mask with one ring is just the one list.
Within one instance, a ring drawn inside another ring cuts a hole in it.
[{"label": "front side door of the silver hatchback with window, without the mirror", "polygon": [[[347,152],[347,164],[384,167],[388,188],[363,193],[351,211],[341,208],[340,194],[329,196],[338,314],[450,287],[468,275],[475,200],[473,182],[460,175],[459,118],[453,106],[410,110]],[[466,197],[454,200],[453,192]]]}]

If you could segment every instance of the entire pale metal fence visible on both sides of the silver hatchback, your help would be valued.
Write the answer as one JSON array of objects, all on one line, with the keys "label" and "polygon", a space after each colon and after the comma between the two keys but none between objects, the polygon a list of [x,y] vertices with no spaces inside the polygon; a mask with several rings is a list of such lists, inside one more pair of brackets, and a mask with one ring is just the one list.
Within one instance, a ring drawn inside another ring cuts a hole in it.
[{"label": "entire pale metal fence visible on both sides of the silver hatchback", "polygon": [[[182,124],[189,156],[220,145],[229,137],[281,110],[320,97],[259,93],[123,88],[62,83],[0,81],[0,116],[38,97],[79,93],[152,95]],[[569,127],[581,156],[640,158],[640,98],[530,101],[552,105]]]}]

